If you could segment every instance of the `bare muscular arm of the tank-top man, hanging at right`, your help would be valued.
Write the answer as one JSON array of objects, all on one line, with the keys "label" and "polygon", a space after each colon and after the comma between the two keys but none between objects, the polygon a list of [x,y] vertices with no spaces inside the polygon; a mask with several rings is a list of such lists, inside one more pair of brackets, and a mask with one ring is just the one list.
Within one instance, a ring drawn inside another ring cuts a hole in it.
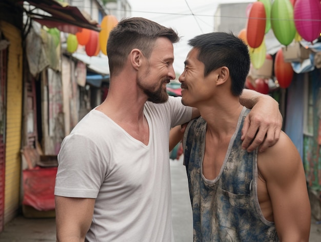
[{"label": "bare muscular arm of the tank-top man, hanging at right", "polygon": [[311,209],[300,155],[281,133],[278,143],[258,155],[280,241],[309,241]]}]

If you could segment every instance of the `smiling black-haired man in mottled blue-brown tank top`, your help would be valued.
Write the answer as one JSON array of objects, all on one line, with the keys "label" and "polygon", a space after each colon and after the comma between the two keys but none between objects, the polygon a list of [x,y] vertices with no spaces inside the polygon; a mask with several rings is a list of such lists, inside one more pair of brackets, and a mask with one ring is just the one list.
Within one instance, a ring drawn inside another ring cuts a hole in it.
[{"label": "smiling black-haired man in mottled blue-brown tank top", "polygon": [[239,103],[248,47],[230,33],[198,35],[179,76],[182,103],[200,117],[183,139],[194,241],[309,241],[311,211],[300,155],[284,133],[263,152],[242,148]]}]

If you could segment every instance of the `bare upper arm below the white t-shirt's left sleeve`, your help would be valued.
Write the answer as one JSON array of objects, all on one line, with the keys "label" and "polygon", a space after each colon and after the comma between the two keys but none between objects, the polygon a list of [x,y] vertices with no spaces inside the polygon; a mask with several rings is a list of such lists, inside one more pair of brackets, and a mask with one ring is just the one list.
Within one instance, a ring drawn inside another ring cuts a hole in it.
[{"label": "bare upper arm below the white t-shirt's left sleeve", "polygon": [[85,241],[95,199],[55,196],[57,242]]}]

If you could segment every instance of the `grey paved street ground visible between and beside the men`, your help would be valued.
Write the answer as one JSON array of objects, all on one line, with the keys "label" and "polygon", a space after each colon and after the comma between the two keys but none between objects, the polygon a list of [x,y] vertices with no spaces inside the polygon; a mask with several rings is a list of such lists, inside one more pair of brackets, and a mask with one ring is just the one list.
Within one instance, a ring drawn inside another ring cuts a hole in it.
[{"label": "grey paved street ground visible between and beside the men", "polygon": [[[182,160],[171,160],[173,229],[175,242],[192,241],[192,214]],[[1,242],[56,241],[54,218],[30,219],[18,216],[0,233]],[[311,221],[309,242],[321,241],[321,224]]]}]

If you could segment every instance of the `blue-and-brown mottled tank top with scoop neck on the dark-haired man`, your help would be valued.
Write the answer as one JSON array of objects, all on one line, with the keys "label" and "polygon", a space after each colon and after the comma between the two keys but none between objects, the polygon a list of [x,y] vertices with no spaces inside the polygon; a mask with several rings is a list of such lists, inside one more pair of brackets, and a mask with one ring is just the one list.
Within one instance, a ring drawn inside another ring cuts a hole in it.
[{"label": "blue-and-brown mottled tank top with scoop neck on the dark-haired man", "polygon": [[206,122],[193,119],[184,134],[184,163],[193,209],[194,241],[279,241],[274,223],[264,218],[257,199],[257,150],[241,148],[243,108],[219,175],[202,174]]}]

